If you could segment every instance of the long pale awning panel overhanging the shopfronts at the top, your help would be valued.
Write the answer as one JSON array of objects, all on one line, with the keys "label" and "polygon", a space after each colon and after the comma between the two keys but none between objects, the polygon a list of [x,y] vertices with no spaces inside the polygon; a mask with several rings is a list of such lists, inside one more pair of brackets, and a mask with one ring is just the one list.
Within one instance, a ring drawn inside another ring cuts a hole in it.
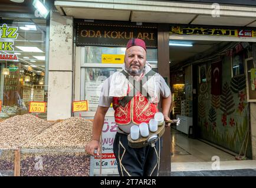
[{"label": "long pale awning panel overhanging the shopfronts at the top", "polygon": [[61,15],[166,24],[256,27],[256,8],[188,2],[69,0],[55,1]]}]

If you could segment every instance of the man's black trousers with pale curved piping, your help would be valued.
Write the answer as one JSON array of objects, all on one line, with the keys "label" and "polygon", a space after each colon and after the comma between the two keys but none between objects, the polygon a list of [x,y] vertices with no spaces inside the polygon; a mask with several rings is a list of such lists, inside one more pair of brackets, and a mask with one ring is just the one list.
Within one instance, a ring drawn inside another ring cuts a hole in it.
[{"label": "man's black trousers with pale curved piping", "polygon": [[120,176],[158,176],[160,142],[161,139],[154,147],[132,148],[127,135],[116,133],[113,150]]}]

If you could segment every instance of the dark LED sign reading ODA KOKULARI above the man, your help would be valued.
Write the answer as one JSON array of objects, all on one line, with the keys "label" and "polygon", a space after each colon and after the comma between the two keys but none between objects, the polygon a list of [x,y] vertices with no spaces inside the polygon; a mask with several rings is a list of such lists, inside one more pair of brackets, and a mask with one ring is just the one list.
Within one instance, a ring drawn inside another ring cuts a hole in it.
[{"label": "dark LED sign reading ODA KOKULARI above the man", "polygon": [[77,24],[76,45],[126,46],[130,38],[143,39],[147,47],[156,48],[157,28],[111,24]]}]

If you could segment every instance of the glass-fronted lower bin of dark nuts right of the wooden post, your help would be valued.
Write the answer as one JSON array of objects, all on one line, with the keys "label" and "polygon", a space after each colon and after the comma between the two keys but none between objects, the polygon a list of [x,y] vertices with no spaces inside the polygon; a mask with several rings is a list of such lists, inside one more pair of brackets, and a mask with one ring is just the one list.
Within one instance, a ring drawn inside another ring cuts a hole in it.
[{"label": "glass-fronted lower bin of dark nuts right of the wooden post", "polygon": [[90,156],[81,149],[21,149],[20,176],[90,176]]}]

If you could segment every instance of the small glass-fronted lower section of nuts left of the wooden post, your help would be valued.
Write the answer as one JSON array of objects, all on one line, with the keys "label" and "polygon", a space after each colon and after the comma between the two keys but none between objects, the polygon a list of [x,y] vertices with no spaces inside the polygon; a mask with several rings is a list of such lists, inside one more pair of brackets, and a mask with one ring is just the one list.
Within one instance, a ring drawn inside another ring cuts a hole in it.
[{"label": "small glass-fronted lower section of nuts left of the wooden post", "polygon": [[14,176],[15,149],[0,149],[0,176]]}]

